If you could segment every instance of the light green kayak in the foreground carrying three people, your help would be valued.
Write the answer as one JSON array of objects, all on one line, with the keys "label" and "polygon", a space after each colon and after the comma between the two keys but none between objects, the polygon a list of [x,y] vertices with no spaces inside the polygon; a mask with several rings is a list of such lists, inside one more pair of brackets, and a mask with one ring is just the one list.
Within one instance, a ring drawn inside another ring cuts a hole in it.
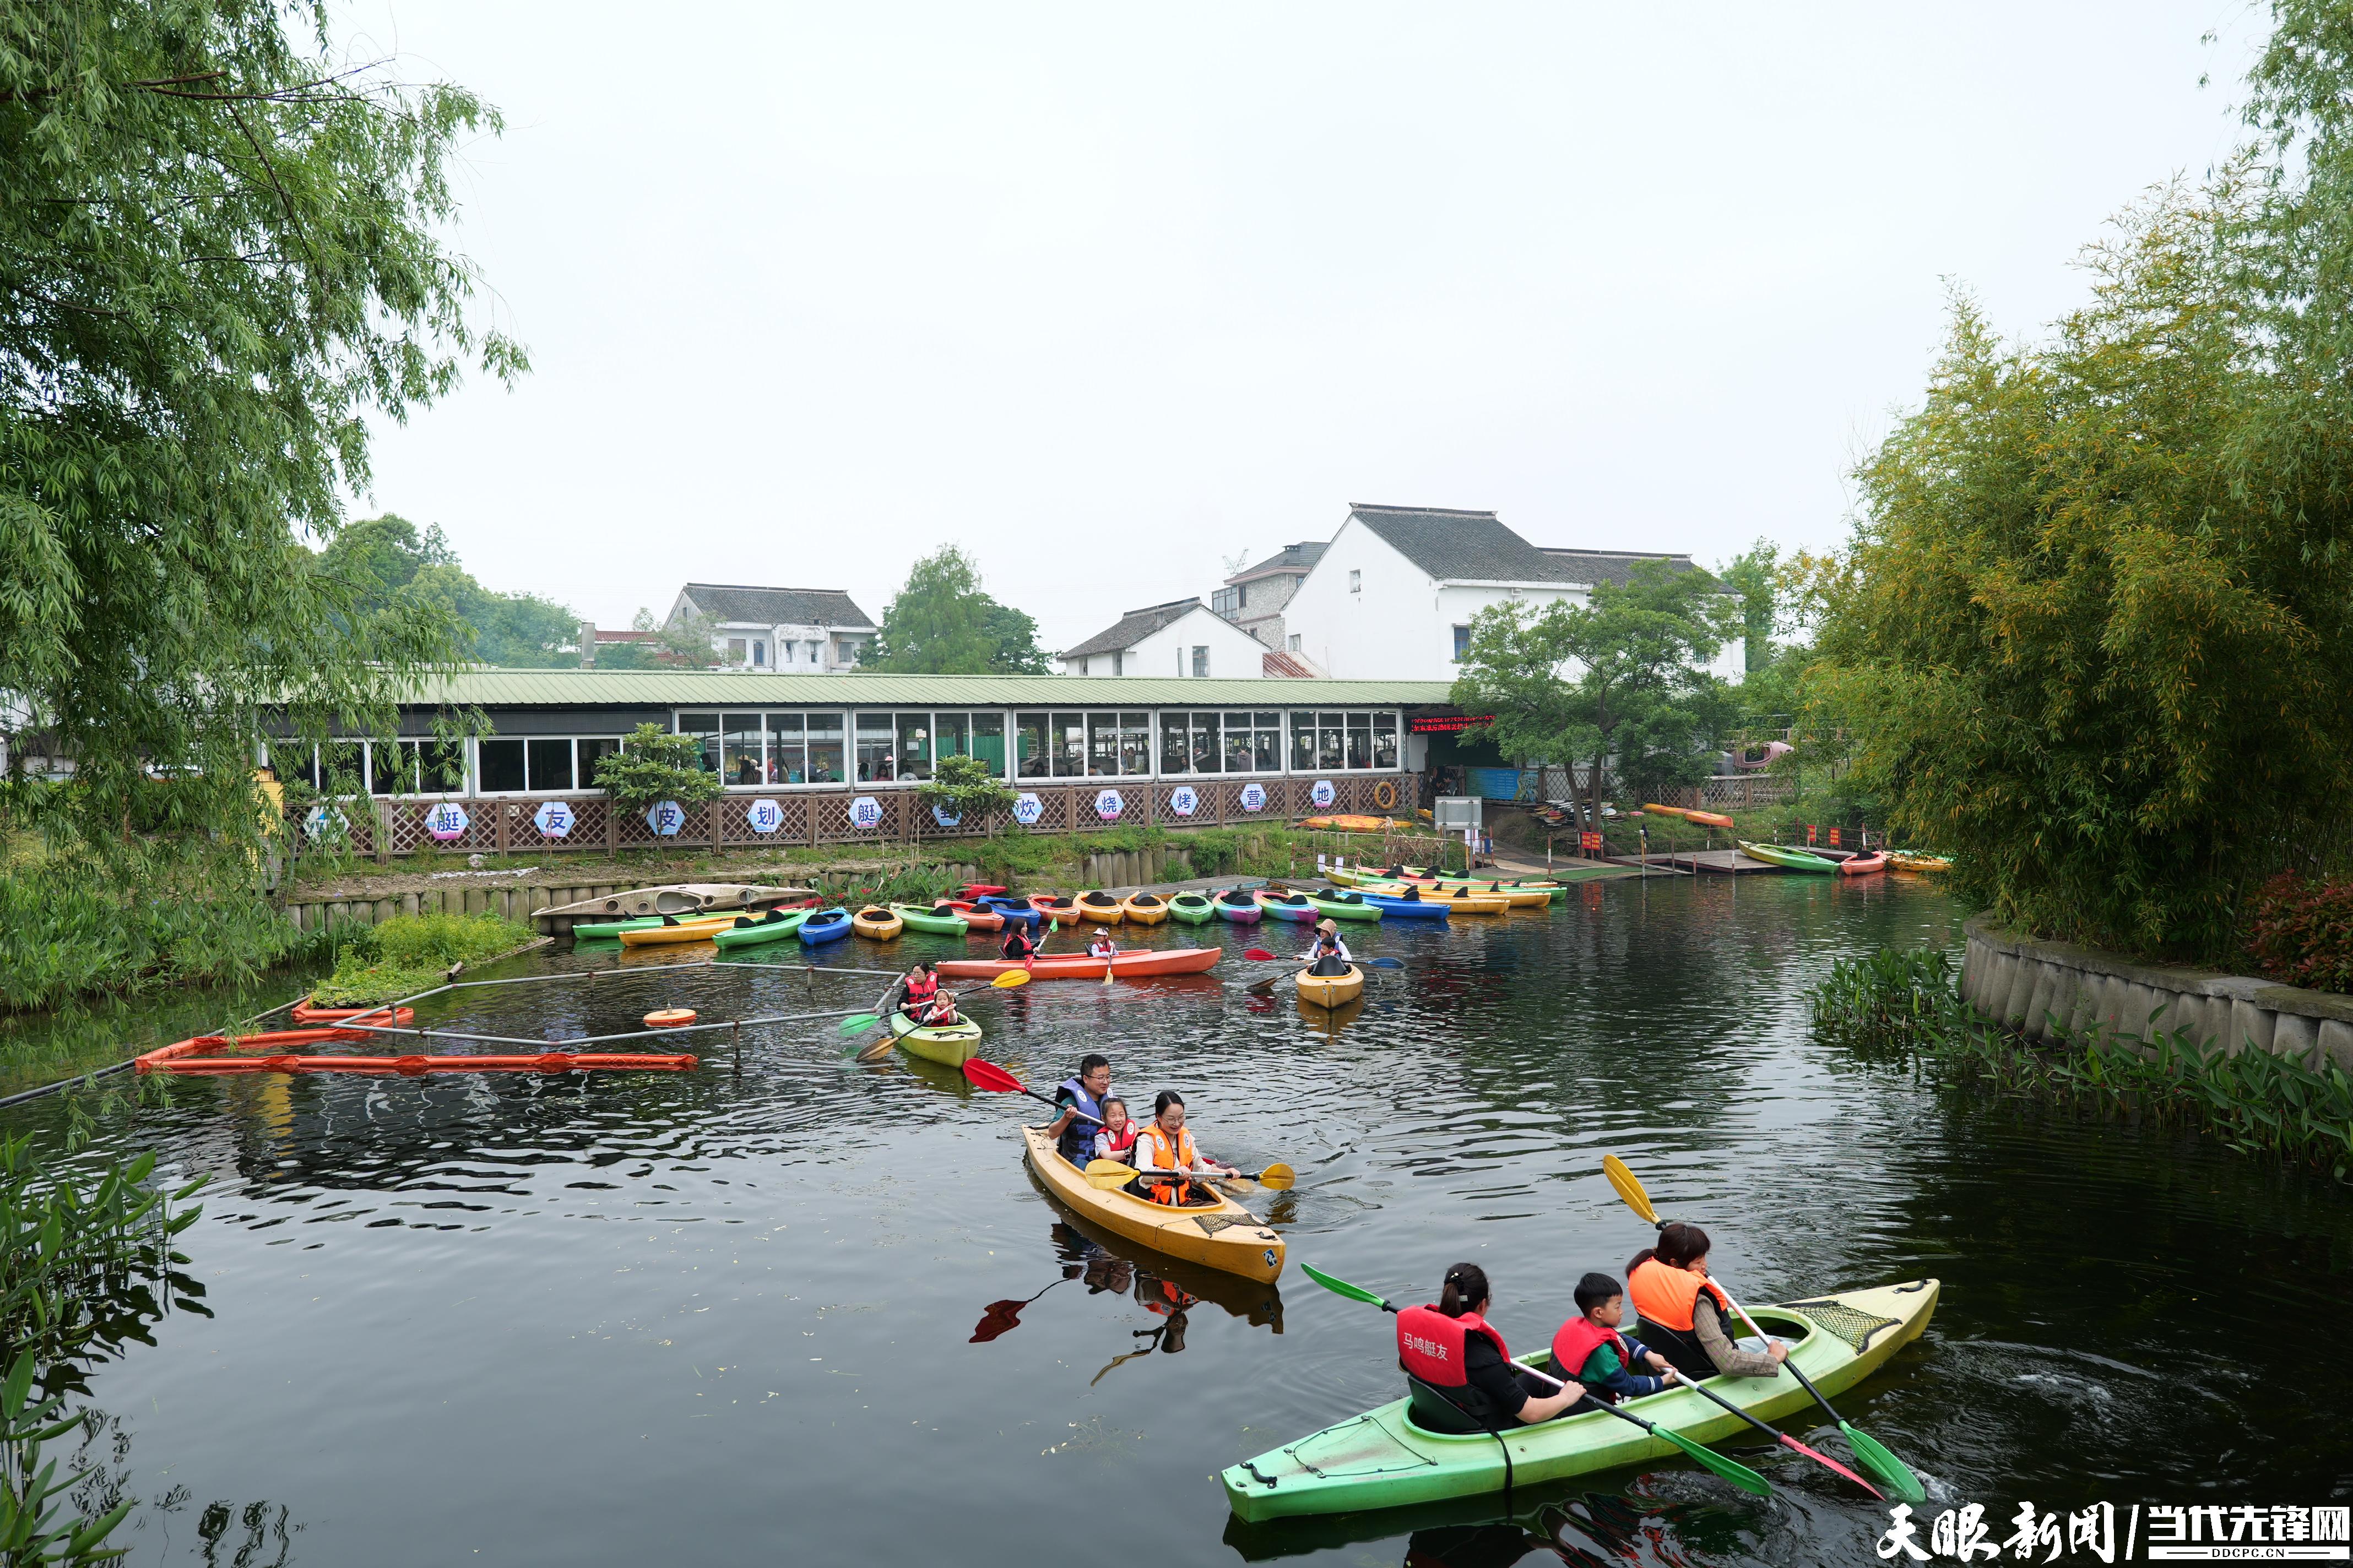
[{"label": "light green kayak in the foreground carrying three people", "polygon": [[[1791,1361],[1824,1394],[1854,1387],[1904,1345],[1920,1338],[1937,1312],[1937,1281],[1840,1291],[1779,1307],[1758,1307],[1760,1326],[1788,1342]],[[1367,1340],[1381,1335],[1381,1354],[1393,1338],[1379,1314],[1367,1312]],[[1522,1356],[1544,1363],[1548,1352]],[[1795,1378],[1708,1378],[1706,1387],[1758,1420],[1807,1415],[1812,1396]],[[1631,1399],[1626,1410],[1697,1443],[1746,1439],[1751,1427],[1692,1389],[1666,1389]],[[1504,1448],[1511,1448],[1511,1469]],[[1607,1410],[1562,1415],[1534,1427],[1438,1434],[1414,1425],[1409,1401],[1351,1415],[1247,1465],[1226,1469],[1226,1500],[1242,1519],[1297,1514],[1355,1514],[1409,1502],[1475,1497],[1506,1486],[1541,1486],[1598,1469],[1678,1458],[1680,1450]]]}]

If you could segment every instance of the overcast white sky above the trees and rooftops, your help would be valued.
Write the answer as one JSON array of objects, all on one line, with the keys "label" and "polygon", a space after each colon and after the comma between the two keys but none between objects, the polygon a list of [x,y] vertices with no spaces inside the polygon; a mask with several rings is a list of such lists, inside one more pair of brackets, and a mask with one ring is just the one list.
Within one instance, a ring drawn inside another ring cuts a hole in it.
[{"label": "overcast white sky above the trees and rooftops", "polygon": [[880,616],[955,541],[1047,646],[1351,501],[1704,562],[1840,541],[1948,280],[2014,334],[2068,308],[2111,212],[2228,150],[2264,31],[2233,0],[344,19],[506,110],[459,244],[534,360],[386,430],[362,515],[600,625],[689,578]]}]

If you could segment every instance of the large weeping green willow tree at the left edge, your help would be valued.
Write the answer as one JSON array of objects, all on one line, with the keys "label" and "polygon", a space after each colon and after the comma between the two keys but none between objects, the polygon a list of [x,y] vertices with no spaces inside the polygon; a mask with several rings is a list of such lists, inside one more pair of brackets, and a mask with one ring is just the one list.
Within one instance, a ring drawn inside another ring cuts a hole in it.
[{"label": "large weeping green willow tree at the left edge", "polygon": [[[0,0],[0,689],[75,757],[54,806],[249,837],[275,722],[388,724],[459,658],[358,614],[304,545],[367,484],[369,414],[447,393],[475,331],[445,165],[496,115],[351,71],[259,0]],[[96,837],[87,832],[85,837]]]}]

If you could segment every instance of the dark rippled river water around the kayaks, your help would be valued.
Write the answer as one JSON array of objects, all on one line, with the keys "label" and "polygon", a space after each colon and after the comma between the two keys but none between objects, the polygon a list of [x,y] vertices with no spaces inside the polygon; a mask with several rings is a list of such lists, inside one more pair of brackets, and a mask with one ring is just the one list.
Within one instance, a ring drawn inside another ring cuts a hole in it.
[{"label": "dark rippled river water around the kayaks", "polygon": [[[1362,950],[1407,969],[1337,1023],[1245,997],[1264,938],[1233,926],[1209,929],[1226,985],[979,992],[993,1060],[1052,1084],[1101,1048],[1125,1091],[1181,1088],[1212,1154],[1294,1164],[1294,1192],[1252,1199],[1289,1241],[1280,1286],[1106,1253],[1021,1168],[1033,1103],[859,1067],[831,1025],[760,1032],[741,1077],[713,1048],[694,1074],[174,1081],[106,1138],[214,1173],[184,1237],[212,1316],[92,1375],[113,1476],[148,1505],[118,1542],[402,1568],[1878,1561],[1882,1509],[1746,1450],[1774,1500],[1659,1465],[1515,1493],[1508,1519],[1228,1521],[1219,1467],[1398,1392],[1388,1319],[1301,1260],[1414,1300],[1478,1260],[1506,1335],[1541,1342],[1579,1274],[1645,1244],[1605,1152],[1708,1225],[1751,1300],[1941,1276],[1927,1338],[1842,1408],[1995,1540],[2019,1500],[2344,1502],[2344,1187],[1807,1039],[1800,992],[1833,957],[1958,943],[1960,914],[1908,879],[1619,882],[1381,929]],[[546,1037],[812,992],[640,957],[431,1016]]]}]

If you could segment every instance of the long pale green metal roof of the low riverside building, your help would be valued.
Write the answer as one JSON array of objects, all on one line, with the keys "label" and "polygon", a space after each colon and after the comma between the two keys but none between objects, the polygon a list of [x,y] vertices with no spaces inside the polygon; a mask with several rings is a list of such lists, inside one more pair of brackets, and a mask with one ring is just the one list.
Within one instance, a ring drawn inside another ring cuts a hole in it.
[{"label": "long pale green metal roof of the low riverside building", "polygon": [[1118,675],[755,675],[734,670],[461,670],[419,703],[480,708],[1367,708],[1445,703],[1447,682],[1155,679]]}]

